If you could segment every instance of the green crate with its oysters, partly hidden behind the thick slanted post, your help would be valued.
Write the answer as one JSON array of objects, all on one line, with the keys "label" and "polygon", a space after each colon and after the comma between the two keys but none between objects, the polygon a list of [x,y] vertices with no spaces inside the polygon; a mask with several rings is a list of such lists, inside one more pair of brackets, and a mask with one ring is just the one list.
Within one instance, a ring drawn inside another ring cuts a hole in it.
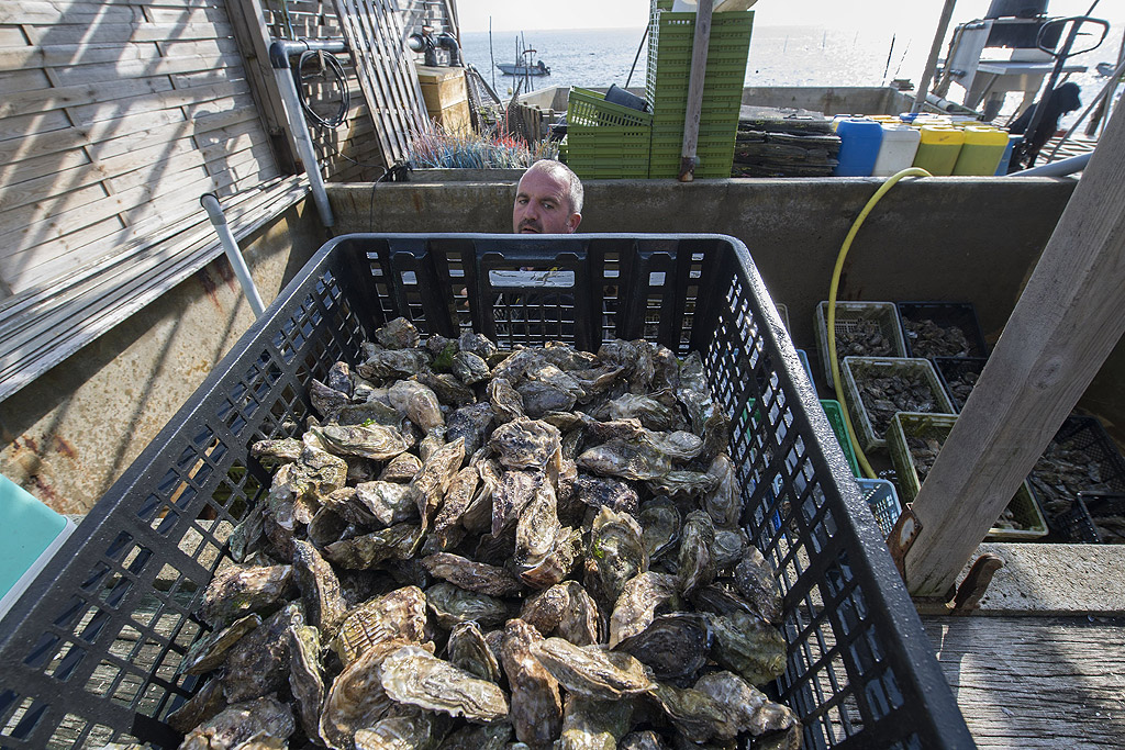
[{"label": "green crate with its oysters, partly hidden behind the thick slanted post", "polygon": [[[921,484],[926,481],[956,421],[957,417],[952,414],[899,412],[894,415],[886,433],[886,443],[903,503],[911,503],[918,496]],[[1029,542],[1046,534],[1047,525],[1043,513],[1025,480],[986,539]]]}]

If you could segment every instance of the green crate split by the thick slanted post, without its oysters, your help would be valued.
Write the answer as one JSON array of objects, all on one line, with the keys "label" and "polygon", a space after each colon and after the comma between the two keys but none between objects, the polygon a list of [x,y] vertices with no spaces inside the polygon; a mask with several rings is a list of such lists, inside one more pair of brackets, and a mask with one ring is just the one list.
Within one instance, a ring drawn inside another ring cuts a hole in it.
[{"label": "green crate split by the thick slanted post, without its oysters", "polygon": [[[921,437],[924,440],[936,440],[945,444],[945,439],[950,436],[953,424],[957,417],[952,414],[918,414],[915,412],[899,412],[891,419],[891,426],[886,431],[886,445],[891,453],[891,462],[894,464],[894,472],[898,477],[899,493],[902,503],[910,503],[918,497],[921,489],[921,480],[918,477],[918,469],[915,464],[914,455],[907,445],[908,437]],[[1042,539],[1047,534],[1047,524],[1043,518],[1038,504],[1032,497],[1030,487],[1025,480],[1016,496],[1008,503],[1008,509],[1015,516],[1015,521],[1020,528],[998,528],[992,527],[986,539],[1007,542],[1028,542]]]}]

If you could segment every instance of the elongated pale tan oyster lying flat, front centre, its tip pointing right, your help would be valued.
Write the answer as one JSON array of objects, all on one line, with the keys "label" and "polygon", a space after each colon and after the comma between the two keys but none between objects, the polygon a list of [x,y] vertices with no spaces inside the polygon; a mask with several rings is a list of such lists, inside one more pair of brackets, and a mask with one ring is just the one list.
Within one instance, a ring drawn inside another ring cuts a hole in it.
[{"label": "elongated pale tan oyster lying flat, front centre, its tip pointing right", "polygon": [[644,665],[628,653],[579,647],[561,638],[538,642],[531,652],[560,685],[578,695],[615,701],[654,688]]}]

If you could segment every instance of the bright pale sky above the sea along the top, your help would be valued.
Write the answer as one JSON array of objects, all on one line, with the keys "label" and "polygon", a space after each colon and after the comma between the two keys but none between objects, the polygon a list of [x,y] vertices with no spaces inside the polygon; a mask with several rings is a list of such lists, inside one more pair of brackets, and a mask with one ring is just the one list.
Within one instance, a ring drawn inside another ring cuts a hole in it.
[{"label": "bright pale sky above the sea along the top", "polygon": [[[1094,0],[1051,0],[1052,17],[1081,16]],[[933,39],[944,0],[758,0],[755,24],[768,26],[885,27]],[[958,0],[953,24],[983,16],[990,0]],[[649,0],[458,0],[462,31],[567,28],[644,28]],[[1092,13],[1125,22],[1125,2],[1101,0]]]}]

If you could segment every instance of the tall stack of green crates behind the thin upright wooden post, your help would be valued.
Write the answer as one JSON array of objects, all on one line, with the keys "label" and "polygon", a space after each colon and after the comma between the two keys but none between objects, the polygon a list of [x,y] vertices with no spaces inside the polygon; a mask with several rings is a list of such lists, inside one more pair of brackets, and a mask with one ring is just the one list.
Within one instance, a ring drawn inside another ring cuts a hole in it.
[{"label": "tall stack of green crates behind the thin upright wooden post", "polygon": [[[680,153],[687,114],[687,82],[695,40],[695,13],[670,12],[654,2],[649,21],[646,98],[652,107],[650,178],[680,174]],[[714,13],[703,76],[703,107],[695,146],[695,177],[730,177],[735,136],[750,47],[753,11]]]}]

